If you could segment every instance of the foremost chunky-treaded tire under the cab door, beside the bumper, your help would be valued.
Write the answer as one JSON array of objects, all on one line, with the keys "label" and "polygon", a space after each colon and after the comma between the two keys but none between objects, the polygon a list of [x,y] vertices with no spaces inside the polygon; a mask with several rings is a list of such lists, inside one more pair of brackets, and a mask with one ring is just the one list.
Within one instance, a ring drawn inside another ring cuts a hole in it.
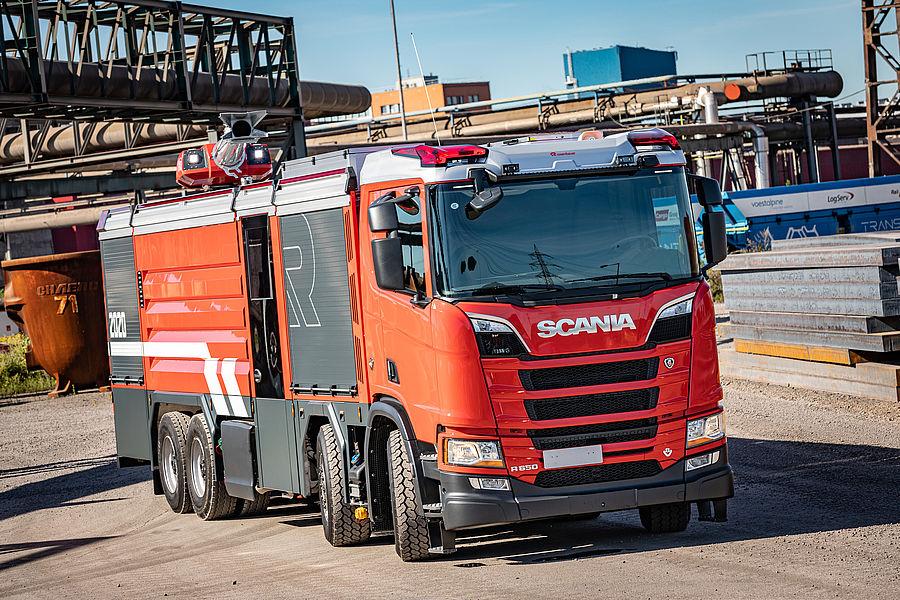
[{"label": "foremost chunky-treaded tire under the cab door, beside the bumper", "polygon": [[388,435],[394,548],[404,562],[428,558],[428,522],[416,491],[415,470],[398,430]]}]

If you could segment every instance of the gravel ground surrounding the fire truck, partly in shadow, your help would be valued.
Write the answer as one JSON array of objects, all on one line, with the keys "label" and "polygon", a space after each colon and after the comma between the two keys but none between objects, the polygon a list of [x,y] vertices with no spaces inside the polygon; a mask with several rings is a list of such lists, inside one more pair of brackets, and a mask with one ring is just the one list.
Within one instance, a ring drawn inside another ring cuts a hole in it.
[{"label": "gravel ground surrounding the fire truck, partly in shadow", "polygon": [[115,466],[109,397],[0,400],[0,598],[892,598],[900,405],[725,380],[726,524],[651,536],[636,515],[498,528],[443,560],[332,548],[282,505],[204,523]]}]

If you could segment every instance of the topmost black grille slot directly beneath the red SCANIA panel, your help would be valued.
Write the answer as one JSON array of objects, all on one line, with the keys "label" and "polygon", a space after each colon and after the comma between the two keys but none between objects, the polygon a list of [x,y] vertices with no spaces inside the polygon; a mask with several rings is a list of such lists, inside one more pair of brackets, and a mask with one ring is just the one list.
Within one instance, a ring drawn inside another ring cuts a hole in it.
[{"label": "topmost black grille slot directly beneath the red SCANIA panel", "polygon": [[519,371],[522,386],[529,391],[644,381],[656,377],[659,358],[644,358],[574,367]]}]

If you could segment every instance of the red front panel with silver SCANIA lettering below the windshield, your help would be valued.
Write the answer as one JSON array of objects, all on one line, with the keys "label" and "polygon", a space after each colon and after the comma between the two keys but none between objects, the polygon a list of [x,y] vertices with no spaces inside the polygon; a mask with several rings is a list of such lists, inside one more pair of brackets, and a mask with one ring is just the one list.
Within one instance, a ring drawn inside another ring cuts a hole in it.
[{"label": "red front panel with silver SCANIA lettering below the windshield", "polygon": [[660,310],[697,289],[697,283],[687,283],[639,298],[584,304],[520,307],[463,302],[459,307],[470,316],[507,322],[530,355],[549,357],[641,347]]}]

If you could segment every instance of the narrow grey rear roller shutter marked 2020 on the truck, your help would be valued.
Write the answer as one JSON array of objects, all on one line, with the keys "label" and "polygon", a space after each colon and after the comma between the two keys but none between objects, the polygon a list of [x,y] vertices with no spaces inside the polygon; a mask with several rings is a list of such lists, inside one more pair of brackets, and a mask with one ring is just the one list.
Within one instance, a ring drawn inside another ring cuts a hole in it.
[{"label": "narrow grey rear roller shutter marked 2020 on the truck", "polygon": [[[137,271],[131,237],[102,240],[103,285],[106,292],[107,336],[111,342],[140,343]],[[124,319],[122,319],[124,317]],[[141,356],[110,356],[110,381],[138,383],[144,378]]]}]

